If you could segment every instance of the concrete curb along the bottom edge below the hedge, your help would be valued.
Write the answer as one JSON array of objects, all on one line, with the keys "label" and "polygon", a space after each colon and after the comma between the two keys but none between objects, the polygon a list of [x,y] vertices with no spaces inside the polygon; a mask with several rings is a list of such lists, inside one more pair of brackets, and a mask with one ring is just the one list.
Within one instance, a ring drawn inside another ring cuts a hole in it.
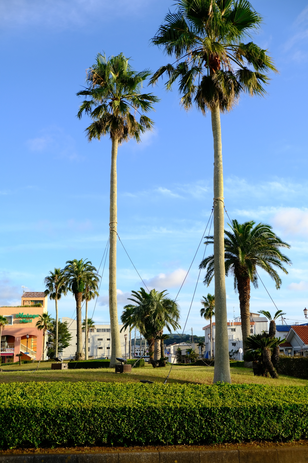
[{"label": "concrete curb along the bottom edge below the hedge", "polygon": [[0,463],[308,463],[307,447],[1,455]]}]

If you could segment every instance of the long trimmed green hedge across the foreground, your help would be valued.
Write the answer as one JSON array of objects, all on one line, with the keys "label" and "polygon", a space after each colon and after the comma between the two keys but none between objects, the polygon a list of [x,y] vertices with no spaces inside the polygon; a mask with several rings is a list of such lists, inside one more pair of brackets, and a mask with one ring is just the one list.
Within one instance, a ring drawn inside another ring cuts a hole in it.
[{"label": "long trimmed green hedge across the foreground", "polygon": [[259,384],[0,384],[0,448],[308,438],[307,393]]}]

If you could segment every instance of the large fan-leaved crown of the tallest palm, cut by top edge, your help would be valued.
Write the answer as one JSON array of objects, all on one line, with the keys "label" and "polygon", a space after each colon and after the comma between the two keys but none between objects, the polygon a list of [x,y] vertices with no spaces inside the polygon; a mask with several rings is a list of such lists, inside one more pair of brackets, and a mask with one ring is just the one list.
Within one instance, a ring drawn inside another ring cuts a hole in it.
[{"label": "large fan-leaved crown of the tallest palm, cut by top edge", "polygon": [[152,39],[175,56],[176,65],[162,66],[151,82],[166,73],[170,89],[178,80],[183,106],[194,101],[203,113],[217,104],[229,111],[241,92],[265,94],[269,78],[263,72],[277,70],[266,50],[242,42],[261,21],[245,0],[180,0]]}]

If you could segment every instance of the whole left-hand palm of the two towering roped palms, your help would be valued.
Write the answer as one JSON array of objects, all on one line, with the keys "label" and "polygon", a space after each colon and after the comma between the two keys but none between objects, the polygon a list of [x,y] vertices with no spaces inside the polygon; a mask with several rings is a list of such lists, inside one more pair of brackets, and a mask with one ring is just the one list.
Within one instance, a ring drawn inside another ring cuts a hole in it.
[{"label": "whole left-hand palm of the two towering roped palms", "polygon": [[[88,140],[98,140],[109,134],[111,139],[110,171],[110,217],[109,217],[109,313],[111,329],[110,367],[121,357],[121,343],[116,296],[116,239],[117,239],[117,174],[116,158],[118,145],[134,138],[140,141],[140,134],[153,127],[153,121],[141,113],[153,109],[158,101],[153,94],[142,94],[143,82],[151,75],[149,70],[136,73],[128,59],[120,53],[117,56],[97,55],[96,63],[87,74],[88,88],[78,92],[89,97],[79,108],[78,117],[89,114],[92,124],[85,129]],[[133,113],[140,114],[139,122]],[[141,113],[140,113],[141,112]]]}]

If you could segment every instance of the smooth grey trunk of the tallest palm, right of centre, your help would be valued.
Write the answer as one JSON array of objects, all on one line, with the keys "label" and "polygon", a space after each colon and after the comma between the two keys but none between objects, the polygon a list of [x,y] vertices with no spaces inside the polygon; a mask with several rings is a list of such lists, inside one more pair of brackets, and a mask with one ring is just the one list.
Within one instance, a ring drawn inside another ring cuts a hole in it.
[{"label": "smooth grey trunk of the tallest palm, right of centre", "polygon": [[219,105],[211,110],[214,139],[214,272],[215,367],[214,383],[231,382],[224,269],[223,156]]}]

